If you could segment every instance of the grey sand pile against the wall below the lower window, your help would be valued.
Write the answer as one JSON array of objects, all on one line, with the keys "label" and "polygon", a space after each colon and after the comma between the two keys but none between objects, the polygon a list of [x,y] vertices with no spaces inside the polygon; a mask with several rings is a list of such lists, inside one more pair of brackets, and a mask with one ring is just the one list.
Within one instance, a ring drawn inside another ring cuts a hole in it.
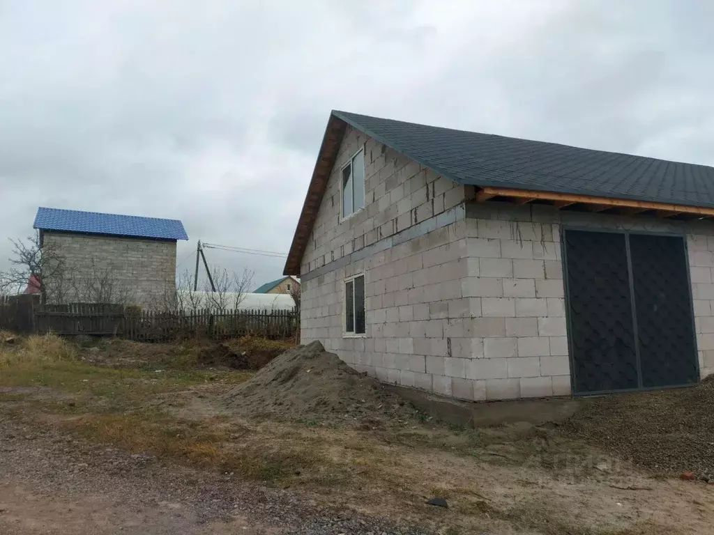
[{"label": "grey sand pile against the wall below the lower window", "polygon": [[418,414],[376,379],[326,352],[320,342],[284,352],[222,399],[229,409],[246,416],[319,422],[377,425]]}]

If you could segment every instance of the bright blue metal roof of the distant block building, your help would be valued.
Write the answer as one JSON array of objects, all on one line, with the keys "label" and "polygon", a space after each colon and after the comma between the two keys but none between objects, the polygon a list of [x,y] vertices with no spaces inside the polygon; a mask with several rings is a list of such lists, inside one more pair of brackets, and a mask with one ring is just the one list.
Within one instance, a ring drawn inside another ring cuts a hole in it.
[{"label": "bright blue metal roof of the distant block building", "polygon": [[178,219],[142,218],[138,215],[80,212],[59,208],[37,209],[33,228],[82,234],[131,236],[160,240],[188,240]]}]

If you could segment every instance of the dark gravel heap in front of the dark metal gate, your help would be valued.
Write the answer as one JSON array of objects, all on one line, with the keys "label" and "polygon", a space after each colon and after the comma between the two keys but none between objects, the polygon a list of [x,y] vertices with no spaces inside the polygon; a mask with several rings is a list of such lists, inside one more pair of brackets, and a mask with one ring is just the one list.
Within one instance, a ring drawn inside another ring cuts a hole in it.
[{"label": "dark gravel heap in front of the dark metal gate", "polygon": [[713,479],[712,407],[714,377],[695,387],[588,399],[561,428],[658,472]]}]

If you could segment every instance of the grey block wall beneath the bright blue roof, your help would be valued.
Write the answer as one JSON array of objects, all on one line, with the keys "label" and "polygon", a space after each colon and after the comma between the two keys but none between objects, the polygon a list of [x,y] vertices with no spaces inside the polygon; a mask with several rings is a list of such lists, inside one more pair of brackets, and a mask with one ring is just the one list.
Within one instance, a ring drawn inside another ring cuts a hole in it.
[{"label": "grey block wall beneath the bright blue roof", "polygon": [[44,233],[66,268],[64,301],[84,300],[91,280],[107,277],[115,295],[146,309],[161,307],[176,288],[176,242],[69,233]]}]

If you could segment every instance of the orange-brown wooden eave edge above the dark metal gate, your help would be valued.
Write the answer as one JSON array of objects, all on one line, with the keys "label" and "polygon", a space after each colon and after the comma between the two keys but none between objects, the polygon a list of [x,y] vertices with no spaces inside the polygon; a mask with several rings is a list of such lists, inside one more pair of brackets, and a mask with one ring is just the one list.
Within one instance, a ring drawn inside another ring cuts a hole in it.
[{"label": "orange-brown wooden eave edge above the dark metal gate", "polygon": [[[585,204],[596,206],[595,211],[608,208],[633,208],[640,211],[658,210],[660,217],[669,217],[683,213],[697,214],[702,217],[714,216],[714,208],[704,208],[702,206],[685,206],[668,203],[650,203],[645,200],[630,199],[610,199],[604,197],[593,197],[591,195],[573,195],[570,193],[556,193],[555,191],[532,191],[532,190],[512,190],[509,188],[481,188],[476,193],[476,200],[483,202],[494,197],[513,197],[528,200],[552,200],[556,208],[565,208],[573,204]],[[667,214],[667,215],[665,215]]]}]

